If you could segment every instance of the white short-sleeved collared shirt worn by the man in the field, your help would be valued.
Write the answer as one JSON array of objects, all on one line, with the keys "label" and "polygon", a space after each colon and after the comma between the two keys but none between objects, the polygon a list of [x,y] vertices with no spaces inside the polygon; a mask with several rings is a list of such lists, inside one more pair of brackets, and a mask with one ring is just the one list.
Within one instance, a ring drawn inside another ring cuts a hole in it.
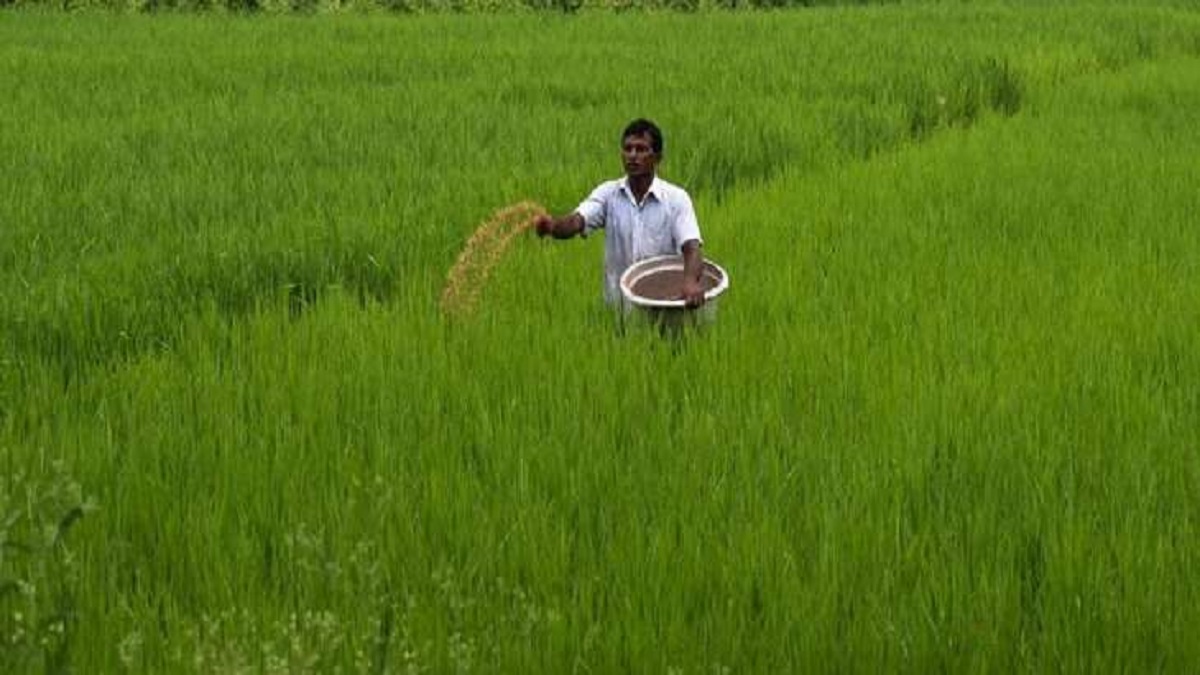
[{"label": "white short-sleeved collared shirt worn by the man in the field", "polygon": [[688,192],[658,177],[637,203],[629,178],[610,180],[588,195],[575,213],[583,216],[583,235],[604,228],[604,298],[620,303],[620,275],[654,256],[679,253],[686,241],[700,238],[696,210]]}]

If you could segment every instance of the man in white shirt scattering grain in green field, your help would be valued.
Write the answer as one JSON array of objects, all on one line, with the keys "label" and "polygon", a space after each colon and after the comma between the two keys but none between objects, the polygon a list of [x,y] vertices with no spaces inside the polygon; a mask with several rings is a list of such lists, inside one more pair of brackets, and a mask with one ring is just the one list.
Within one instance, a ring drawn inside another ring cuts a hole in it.
[{"label": "man in white shirt scattering grain in green field", "polygon": [[688,307],[698,307],[704,304],[700,225],[688,192],[655,174],[662,161],[662,132],[654,123],[637,119],[620,138],[625,178],[600,184],[570,215],[538,216],[538,235],[570,239],[602,227],[604,294],[610,305],[622,301],[620,275],[629,265],[654,256],[683,253],[680,298]]}]

